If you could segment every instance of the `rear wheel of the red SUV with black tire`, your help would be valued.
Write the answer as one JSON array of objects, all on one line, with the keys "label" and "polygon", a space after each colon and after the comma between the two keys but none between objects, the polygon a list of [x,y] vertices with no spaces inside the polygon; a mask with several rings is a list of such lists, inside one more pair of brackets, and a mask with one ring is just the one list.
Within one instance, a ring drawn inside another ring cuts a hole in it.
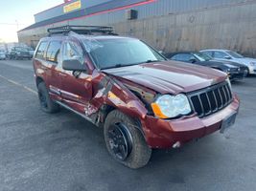
[{"label": "rear wheel of the red SUV with black tire", "polygon": [[39,83],[37,90],[41,110],[48,114],[57,113],[59,111],[59,105],[50,98],[45,83]]}]

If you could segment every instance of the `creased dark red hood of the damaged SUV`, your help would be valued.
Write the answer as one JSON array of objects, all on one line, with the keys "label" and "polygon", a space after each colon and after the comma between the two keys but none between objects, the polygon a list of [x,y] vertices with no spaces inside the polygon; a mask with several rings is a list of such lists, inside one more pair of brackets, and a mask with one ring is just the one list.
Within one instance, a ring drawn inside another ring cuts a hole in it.
[{"label": "creased dark red hood of the damaged SUV", "polygon": [[161,94],[199,90],[225,80],[226,74],[206,67],[176,61],[140,64],[104,70],[119,80],[129,80]]}]

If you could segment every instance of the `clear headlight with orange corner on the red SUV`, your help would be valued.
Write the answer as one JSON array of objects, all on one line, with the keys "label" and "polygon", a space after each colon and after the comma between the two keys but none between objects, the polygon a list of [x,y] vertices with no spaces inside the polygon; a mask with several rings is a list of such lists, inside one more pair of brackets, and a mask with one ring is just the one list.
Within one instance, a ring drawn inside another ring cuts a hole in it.
[{"label": "clear headlight with orange corner on the red SUV", "polygon": [[160,96],[151,104],[151,107],[154,115],[160,118],[172,118],[191,113],[189,100],[184,95]]}]

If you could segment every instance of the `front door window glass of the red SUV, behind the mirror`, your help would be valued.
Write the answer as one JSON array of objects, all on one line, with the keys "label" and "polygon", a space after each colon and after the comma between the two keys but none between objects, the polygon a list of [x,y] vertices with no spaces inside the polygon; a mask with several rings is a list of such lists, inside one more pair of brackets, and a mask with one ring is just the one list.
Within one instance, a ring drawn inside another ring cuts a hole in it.
[{"label": "front door window glass of the red SUV, behind the mirror", "polygon": [[81,46],[73,41],[64,42],[63,60],[79,60],[83,64],[83,53]]}]

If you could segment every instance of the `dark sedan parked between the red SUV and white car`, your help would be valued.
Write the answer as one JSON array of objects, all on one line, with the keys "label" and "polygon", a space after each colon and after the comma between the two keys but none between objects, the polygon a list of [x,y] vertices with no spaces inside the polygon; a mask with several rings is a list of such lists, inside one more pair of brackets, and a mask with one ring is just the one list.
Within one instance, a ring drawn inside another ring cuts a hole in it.
[{"label": "dark sedan parked between the red SUV and white car", "polygon": [[192,64],[197,64],[200,66],[210,67],[213,69],[220,70],[229,75],[230,80],[243,79],[248,70],[246,66],[233,63],[229,61],[218,61],[213,60],[213,58],[204,53],[168,53],[166,57],[176,61],[182,61]]}]

